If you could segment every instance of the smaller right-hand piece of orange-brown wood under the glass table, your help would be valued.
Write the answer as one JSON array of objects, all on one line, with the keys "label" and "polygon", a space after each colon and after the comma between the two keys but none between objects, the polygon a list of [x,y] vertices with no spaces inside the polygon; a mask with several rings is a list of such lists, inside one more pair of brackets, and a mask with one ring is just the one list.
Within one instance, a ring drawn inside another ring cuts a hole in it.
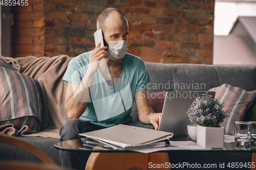
[{"label": "smaller right-hand piece of orange-brown wood under the glass table", "polygon": [[156,169],[156,167],[159,167],[157,169],[170,170],[168,153],[150,153],[148,169]]}]

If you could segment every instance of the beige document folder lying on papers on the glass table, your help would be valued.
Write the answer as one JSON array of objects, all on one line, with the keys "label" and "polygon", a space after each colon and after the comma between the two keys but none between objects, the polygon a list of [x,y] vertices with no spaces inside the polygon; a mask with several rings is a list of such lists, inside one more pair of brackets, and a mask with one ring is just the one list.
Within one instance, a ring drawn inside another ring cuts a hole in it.
[{"label": "beige document folder lying on papers on the glass table", "polygon": [[173,137],[173,133],[139,128],[128,125],[116,125],[97,131],[79,134],[88,138],[114,144],[118,147],[136,147]]}]

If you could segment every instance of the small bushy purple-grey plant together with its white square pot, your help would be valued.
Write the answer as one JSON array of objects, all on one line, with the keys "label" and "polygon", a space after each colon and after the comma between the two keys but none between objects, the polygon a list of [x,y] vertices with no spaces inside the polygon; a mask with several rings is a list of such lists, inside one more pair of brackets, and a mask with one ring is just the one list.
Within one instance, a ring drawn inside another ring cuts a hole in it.
[{"label": "small bushy purple-grey plant together with its white square pot", "polygon": [[199,96],[187,111],[191,123],[197,125],[197,144],[203,148],[223,148],[224,128],[221,124],[227,117],[223,104],[211,95]]}]

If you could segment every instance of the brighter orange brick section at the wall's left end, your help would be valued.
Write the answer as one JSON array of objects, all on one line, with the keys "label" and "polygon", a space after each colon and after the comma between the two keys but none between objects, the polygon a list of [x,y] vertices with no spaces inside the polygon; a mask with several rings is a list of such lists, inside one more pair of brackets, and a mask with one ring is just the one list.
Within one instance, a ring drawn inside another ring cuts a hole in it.
[{"label": "brighter orange brick section at the wall's left end", "polygon": [[12,57],[44,56],[44,1],[29,0],[28,6],[13,6]]}]

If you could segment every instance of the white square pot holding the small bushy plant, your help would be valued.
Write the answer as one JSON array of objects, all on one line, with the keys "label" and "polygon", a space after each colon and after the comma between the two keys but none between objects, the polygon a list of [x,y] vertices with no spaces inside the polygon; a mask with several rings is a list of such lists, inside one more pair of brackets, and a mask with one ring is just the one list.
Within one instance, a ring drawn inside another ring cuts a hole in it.
[{"label": "white square pot holding the small bushy plant", "polygon": [[224,128],[197,126],[197,144],[203,148],[223,148]]}]

